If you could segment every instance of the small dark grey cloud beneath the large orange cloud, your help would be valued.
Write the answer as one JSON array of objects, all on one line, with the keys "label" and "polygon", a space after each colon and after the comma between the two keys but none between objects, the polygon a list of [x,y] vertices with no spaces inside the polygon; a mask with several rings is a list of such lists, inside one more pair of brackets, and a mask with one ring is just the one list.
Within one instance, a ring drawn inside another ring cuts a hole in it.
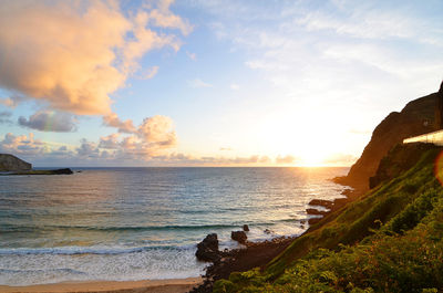
[{"label": "small dark grey cloud beneath the large orange cloud", "polygon": [[29,119],[19,117],[19,125],[40,132],[70,133],[76,130],[76,118],[69,113],[39,111]]}]

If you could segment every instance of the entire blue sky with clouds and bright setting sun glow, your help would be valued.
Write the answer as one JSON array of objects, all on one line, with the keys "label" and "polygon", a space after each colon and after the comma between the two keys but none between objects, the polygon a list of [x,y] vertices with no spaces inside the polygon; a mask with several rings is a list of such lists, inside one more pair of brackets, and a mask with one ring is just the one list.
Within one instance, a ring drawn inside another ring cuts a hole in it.
[{"label": "entire blue sky with clouds and bright setting sun glow", "polygon": [[0,153],[350,166],[443,79],[443,1],[0,2]]}]

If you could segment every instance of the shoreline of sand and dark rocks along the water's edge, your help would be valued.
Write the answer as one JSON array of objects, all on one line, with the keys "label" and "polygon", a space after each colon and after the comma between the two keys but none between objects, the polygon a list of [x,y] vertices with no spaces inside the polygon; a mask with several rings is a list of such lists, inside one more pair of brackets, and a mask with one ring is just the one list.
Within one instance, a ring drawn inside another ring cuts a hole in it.
[{"label": "shoreline of sand and dark rocks along the water's edge", "polygon": [[[337,182],[342,185],[340,182]],[[342,185],[344,186],[344,185]],[[361,191],[358,189],[344,189],[341,195],[344,198],[334,200],[312,199],[317,205],[329,209],[321,211],[321,218],[312,218],[320,221],[330,213],[337,211],[349,201],[354,200]],[[309,205],[312,205],[312,203]],[[312,209],[315,210],[315,208]],[[308,210],[307,210],[308,211]],[[308,214],[315,214],[308,212]],[[309,229],[305,230],[300,236],[310,232],[315,222],[309,221]],[[249,242],[246,241],[246,249],[231,249],[229,251],[219,251],[222,258],[219,261],[209,262],[204,275],[187,279],[169,279],[169,280],[142,280],[142,281],[72,281],[52,284],[25,285],[25,286],[8,286],[0,285],[0,292],[4,293],[69,293],[69,292],[96,292],[96,293],[141,293],[141,292],[158,292],[158,293],[181,293],[181,292],[212,292],[215,281],[227,279],[231,272],[244,272],[253,268],[262,270],[268,262],[280,254],[295,239],[298,237],[277,237],[265,241]]]}]

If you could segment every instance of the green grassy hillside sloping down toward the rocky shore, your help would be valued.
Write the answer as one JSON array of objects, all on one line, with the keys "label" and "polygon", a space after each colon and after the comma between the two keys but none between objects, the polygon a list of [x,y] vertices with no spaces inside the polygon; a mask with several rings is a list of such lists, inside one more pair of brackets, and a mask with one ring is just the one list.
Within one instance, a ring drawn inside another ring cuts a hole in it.
[{"label": "green grassy hillside sloping down toward the rocky shore", "polygon": [[443,188],[434,176],[441,150],[394,148],[380,170],[394,178],[329,214],[262,272],[233,273],[214,292],[443,290]]}]

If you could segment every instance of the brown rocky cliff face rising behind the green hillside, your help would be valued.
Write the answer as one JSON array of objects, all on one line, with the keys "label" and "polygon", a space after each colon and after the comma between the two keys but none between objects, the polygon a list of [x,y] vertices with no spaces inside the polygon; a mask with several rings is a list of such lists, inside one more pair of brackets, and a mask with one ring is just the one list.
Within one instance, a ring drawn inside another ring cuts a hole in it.
[{"label": "brown rocky cliff face rising behind the green hillside", "polygon": [[369,189],[369,178],[375,175],[380,160],[404,138],[433,132],[437,94],[420,97],[406,104],[399,113],[389,114],[373,130],[371,140],[348,176],[337,182],[362,191]]}]

